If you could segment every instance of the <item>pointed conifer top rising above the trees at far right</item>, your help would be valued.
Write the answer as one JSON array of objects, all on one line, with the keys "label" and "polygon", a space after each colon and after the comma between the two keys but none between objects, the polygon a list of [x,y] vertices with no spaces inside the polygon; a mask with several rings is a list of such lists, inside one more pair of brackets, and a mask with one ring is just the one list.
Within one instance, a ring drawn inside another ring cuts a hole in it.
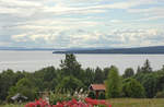
[{"label": "pointed conifer top rising above the trees at far right", "polygon": [[150,61],[147,59],[143,67],[141,68],[142,73],[150,73],[152,72],[152,68],[150,66]]}]

